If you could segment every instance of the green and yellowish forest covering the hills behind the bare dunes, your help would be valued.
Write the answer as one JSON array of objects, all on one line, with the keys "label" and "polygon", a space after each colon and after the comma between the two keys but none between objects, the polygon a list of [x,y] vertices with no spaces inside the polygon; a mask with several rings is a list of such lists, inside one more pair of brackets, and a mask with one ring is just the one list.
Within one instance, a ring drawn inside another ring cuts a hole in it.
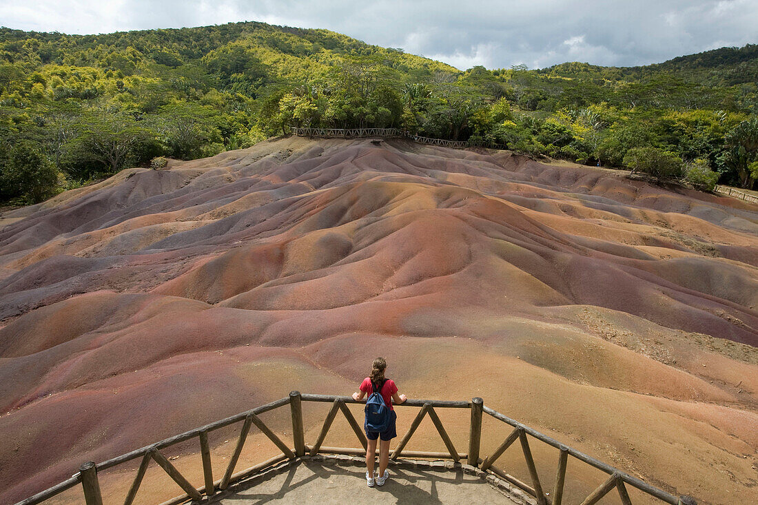
[{"label": "green and yellowish forest covering the hills behind the bare dunes", "polygon": [[105,35],[0,28],[0,202],[298,127],[398,127],[629,168],[758,179],[758,45],[644,67],[459,71],[328,30],[245,22]]}]

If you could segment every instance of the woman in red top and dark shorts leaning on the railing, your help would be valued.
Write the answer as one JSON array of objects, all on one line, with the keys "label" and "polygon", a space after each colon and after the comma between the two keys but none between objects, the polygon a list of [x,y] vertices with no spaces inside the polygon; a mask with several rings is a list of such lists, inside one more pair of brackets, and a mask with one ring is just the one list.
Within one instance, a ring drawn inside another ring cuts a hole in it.
[{"label": "woman in red top and dark shorts leaning on the railing", "polygon": [[[377,485],[384,485],[387,481],[389,472],[387,472],[387,464],[390,463],[390,440],[397,436],[396,420],[397,415],[395,409],[393,409],[392,402],[403,403],[406,401],[406,395],[397,394],[397,386],[392,379],[384,378],[384,370],[387,369],[387,361],[384,358],[374,359],[374,363],[371,367],[371,375],[361,383],[360,391],[356,391],[352,394],[354,400],[363,400],[366,394],[372,394],[378,392],[381,394],[381,399],[384,401],[384,405],[388,408],[386,428],[382,431],[374,431],[372,426],[373,422],[369,425],[368,412],[367,419],[364,423],[364,429],[366,431],[366,438],[368,438],[368,447],[366,448],[366,483],[369,487],[374,486],[374,482]],[[371,398],[369,402],[371,403]],[[378,399],[377,399],[378,400]],[[374,479],[374,457],[377,450],[377,438],[379,442],[379,475]]]}]

